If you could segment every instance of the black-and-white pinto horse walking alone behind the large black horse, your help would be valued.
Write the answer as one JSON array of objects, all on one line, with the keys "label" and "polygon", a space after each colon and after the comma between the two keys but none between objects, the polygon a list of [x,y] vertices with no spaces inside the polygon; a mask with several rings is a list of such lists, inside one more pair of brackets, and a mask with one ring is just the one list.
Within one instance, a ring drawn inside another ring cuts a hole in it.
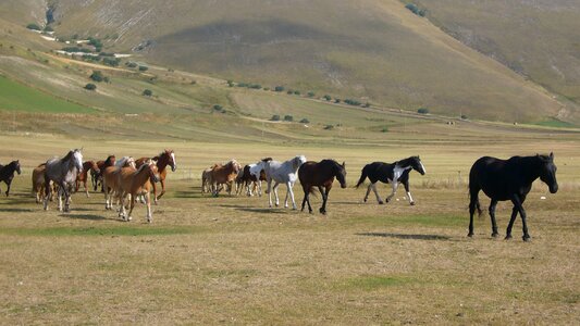
[{"label": "black-and-white pinto horse walking alone behind the large black horse", "polygon": [[421,163],[421,159],[419,159],[419,156],[410,156],[391,164],[384,162],[373,162],[362,167],[362,174],[360,175],[360,179],[358,180],[356,187],[358,188],[368,177],[371,184],[367,188],[367,195],[365,195],[365,202],[367,202],[367,199],[369,199],[369,193],[372,189],[374,191],[374,195],[377,196],[377,201],[379,202],[379,204],[383,204],[383,201],[377,192],[377,181],[381,181],[383,184],[391,184],[393,187],[393,192],[385,199],[386,202],[388,202],[395,196],[395,193],[397,192],[398,184],[402,183],[405,186],[405,190],[407,191],[409,203],[411,205],[415,205],[411,192],[409,191],[409,173],[411,172],[411,170],[419,172],[421,175],[425,174],[423,163]]}]

